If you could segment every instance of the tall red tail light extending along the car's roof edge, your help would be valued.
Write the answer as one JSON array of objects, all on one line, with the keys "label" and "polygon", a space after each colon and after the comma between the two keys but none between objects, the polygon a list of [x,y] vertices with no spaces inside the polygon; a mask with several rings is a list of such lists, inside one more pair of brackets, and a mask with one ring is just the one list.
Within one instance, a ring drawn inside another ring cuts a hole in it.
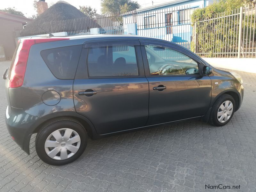
[{"label": "tall red tail light extending along the car's roof edge", "polygon": [[34,44],[46,43],[52,41],[68,40],[69,38],[38,38],[38,39],[24,39],[20,42],[15,60],[10,70],[9,88],[17,88],[23,84],[26,72],[28,54],[30,47]]}]

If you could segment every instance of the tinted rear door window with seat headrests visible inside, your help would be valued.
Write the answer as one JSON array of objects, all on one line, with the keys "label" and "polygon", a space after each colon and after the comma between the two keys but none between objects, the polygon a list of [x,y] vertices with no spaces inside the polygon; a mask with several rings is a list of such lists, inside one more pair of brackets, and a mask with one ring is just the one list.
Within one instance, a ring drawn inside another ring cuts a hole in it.
[{"label": "tinted rear door window with seat headrests visible inside", "polygon": [[90,77],[139,75],[135,47],[130,45],[89,48],[87,68]]}]

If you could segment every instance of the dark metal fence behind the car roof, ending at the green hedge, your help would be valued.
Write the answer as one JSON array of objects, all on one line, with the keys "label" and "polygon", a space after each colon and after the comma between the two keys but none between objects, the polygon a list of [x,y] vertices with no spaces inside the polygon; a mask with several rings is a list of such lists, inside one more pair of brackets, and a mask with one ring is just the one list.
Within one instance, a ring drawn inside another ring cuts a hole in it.
[{"label": "dark metal fence behind the car roof, ending at the green hedge", "polygon": [[[70,20],[59,20],[16,28],[15,36],[33,36],[49,33],[67,32],[67,35],[88,34],[134,34],[165,39],[190,49],[192,28],[190,15],[195,8],[177,6],[165,9],[131,11],[96,15]],[[131,32],[129,24],[137,28]],[[135,26],[135,25],[132,25]],[[47,32],[46,32],[47,31]]]}]

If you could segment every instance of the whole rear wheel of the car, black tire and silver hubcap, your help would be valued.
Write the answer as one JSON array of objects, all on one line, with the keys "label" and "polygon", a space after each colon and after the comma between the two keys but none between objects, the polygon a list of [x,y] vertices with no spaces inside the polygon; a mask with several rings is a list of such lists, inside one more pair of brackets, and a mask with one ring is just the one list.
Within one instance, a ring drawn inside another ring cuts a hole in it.
[{"label": "whole rear wheel of the car, black tire and silver hubcap", "polygon": [[47,164],[63,165],[82,155],[87,134],[79,122],[63,119],[52,122],[36,135],[37,155]]}]

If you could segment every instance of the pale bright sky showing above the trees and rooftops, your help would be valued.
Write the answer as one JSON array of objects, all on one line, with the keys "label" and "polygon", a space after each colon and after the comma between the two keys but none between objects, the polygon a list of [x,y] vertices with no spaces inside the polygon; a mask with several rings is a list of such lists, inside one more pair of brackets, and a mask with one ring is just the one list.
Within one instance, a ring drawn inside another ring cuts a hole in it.
[{"label": "pale bright sky showing above the trees and rooftops", "polygon": [[[58,1],[59,0],[45,0],[45,2],[48,3],[48,6]],[[65,1],[75,6],[78,9],[79,9],[79,5],[91,6],[92,8],[95,8],[97,10],[97,13],[99,14],[101,13],[100,12],[101,0],[65,0]],[[134,0],[134,1],[137,1],[141,5],[141,7],[148,7],[152,5],[152,0]],[[172,1],[172,0],[155,0],[155,1],[153,0],[153,4],[156,5],[156,4],[161,4],[168,1]],[[34,0],[1,0],[0,9],[4,9],[7,7],[15,7],[17,11],[21,11],[24,13],[26,17],[29,17],[33,14],[36,14],[36,11],[34,10],[34,7],[33,7],[33,2]]]}]

